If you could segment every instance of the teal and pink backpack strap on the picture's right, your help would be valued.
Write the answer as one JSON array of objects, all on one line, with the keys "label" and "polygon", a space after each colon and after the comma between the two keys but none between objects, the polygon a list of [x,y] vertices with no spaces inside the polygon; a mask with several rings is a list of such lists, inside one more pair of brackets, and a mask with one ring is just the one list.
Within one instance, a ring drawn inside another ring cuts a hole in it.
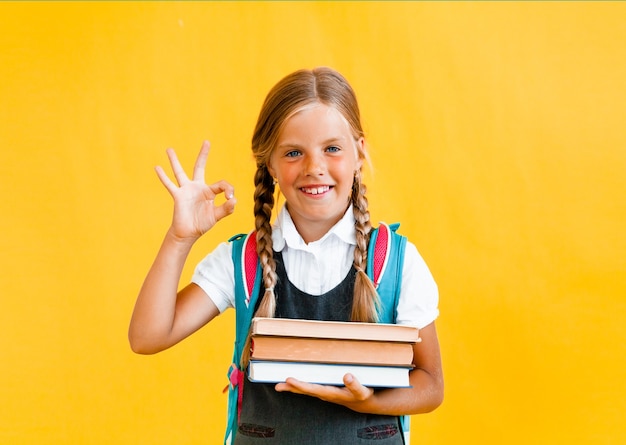
[{"label": "teal and pink backpack strap on the picture's right", "polygon": [[[396,231],[400,224],[380,223],[370,232],[367,252],[367,275],[370,277],[380,297],[380,323],[395,323],[398,300],[402,284],[402,268],[406,237]],[[400,416],[400,426],[404,434],[404,443],[409,444],[411,417]]]}]

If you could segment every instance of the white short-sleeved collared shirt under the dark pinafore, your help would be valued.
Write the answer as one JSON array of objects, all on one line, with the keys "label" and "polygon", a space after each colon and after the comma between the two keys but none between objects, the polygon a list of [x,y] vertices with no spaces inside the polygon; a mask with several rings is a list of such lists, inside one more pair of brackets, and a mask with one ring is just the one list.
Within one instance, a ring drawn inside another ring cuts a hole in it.
[{"label": "white short-sleeved collared shirt under the dark pinafore", "polygon": [[[302,292],[322,295],[339,285],[354,261],[356,231],[352,207],[318,241],[306,244],[285,207],[272,227],[275,251],[282,251],[289,281]],[[221,243],[197,266],[192,282],[220,312],[235,304],[232,244]],[[300,273],[305,271],[305,273]],[[428,266],[411,242],[406,243],[396,323],[423,328],[439,316],[439,293]]]}]

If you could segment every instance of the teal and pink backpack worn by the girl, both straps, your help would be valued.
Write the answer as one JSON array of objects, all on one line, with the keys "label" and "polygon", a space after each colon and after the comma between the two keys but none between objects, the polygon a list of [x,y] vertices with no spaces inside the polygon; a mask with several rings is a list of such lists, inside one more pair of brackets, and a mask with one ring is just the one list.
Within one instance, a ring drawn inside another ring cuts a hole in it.
[{"label": "teal and pink backpack worn by the girl, both straps", "polygon": [[[367,252],[367,275],[373,281],[381,300],[380,323],[395,323],[406,237],[396,233],[400,224],[380,223],[370,232]],[[245,348],[256,300],[262,285],[261,267],[256,252],[256,232],[229,239],[235,266],[235,345],[233,363],[228,370],[228,420],[224,444],[231,444],[237,432],[244,371],[240,359]],[[226,391],[225,389],[225,391]],[[401,416],[405,443],[409,443],[409,416]]]}]

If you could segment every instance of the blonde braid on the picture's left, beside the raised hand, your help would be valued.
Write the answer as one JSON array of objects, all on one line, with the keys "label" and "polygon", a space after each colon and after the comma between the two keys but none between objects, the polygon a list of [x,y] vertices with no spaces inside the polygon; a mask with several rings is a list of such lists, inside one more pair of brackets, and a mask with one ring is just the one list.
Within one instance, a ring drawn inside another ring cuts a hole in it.
[{"label": "blonde braid on the picture's left, beside the raised hand", "polygon": [[257,254],[261,262],[265,293],[256,312],[257,317],[273,317],[276,310],[276,262],[272,249],[270,219],[274,208],[274,183],[265,165],[259,166],[254,176],[254,223],[256,226]]}]

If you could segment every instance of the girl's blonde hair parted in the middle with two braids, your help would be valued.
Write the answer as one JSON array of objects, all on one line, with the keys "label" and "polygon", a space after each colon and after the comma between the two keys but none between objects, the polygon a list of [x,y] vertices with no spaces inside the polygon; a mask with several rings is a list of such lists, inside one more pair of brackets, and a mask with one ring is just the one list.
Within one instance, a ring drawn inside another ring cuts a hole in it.
[{"label": "girl's blonde hair parted in the middle with two braids", "polygon": [[[252,152],[257,171],[254,176],[254,216],[257,253],[262,267],[265,293],[256,312],[259,317],[273,317],[276,310],[276,263],[272,249],[270,219],[274,207],[274,180],[268,170],[270,156],[277,144],[284,123],[303,107],[321,103],[336,108],[347,120],[355,140],[364,136],[356,95],[347,80],[331,68],[298,70],[280,80],[268,93],[252,136]],[[358,156],[367,159],[360,144]],[[379,298],[372,281],[365,273],[367,245],[372,229],[366,187],[361,170],[354,175],[351,202],[356,220],[354,267],[357,270],[351,321],[378,321]]]}]

